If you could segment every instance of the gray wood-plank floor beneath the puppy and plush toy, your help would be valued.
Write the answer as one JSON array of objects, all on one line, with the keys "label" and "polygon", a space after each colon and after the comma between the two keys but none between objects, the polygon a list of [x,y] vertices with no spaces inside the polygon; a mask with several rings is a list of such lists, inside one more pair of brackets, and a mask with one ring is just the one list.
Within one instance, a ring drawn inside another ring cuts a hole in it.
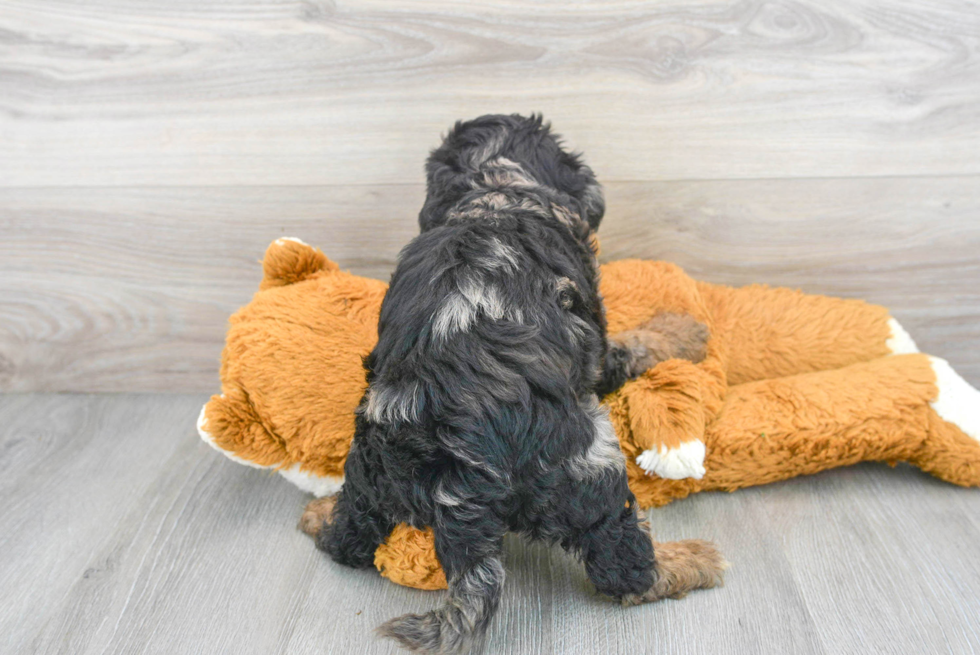
[{"label": "gray wood-plank floor beneath the puppy and plush toy", "polygon": [[[341,568],[306,496],[194,432],[202,395],[0,396],[0,652],[387,653],[438,592]],[[653,513],[715,539],[725,587],[623,609],[510,538],[492,653],[980,652],[980,490],[863,465]]]}]

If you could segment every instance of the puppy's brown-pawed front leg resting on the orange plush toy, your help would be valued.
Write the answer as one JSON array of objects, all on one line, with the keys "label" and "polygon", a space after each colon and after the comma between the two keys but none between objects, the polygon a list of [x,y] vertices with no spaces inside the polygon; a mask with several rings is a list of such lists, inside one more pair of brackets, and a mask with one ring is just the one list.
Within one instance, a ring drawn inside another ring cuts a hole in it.
[{"label": "puppy's brown-pawed front leg resting on the orange plush toy", "polygon": [[657,314],[635,330],[611,334],[597,391],[612,393],[627,380],[668,359],[695,364],[707,352],[708,326],[688,314]]}]

